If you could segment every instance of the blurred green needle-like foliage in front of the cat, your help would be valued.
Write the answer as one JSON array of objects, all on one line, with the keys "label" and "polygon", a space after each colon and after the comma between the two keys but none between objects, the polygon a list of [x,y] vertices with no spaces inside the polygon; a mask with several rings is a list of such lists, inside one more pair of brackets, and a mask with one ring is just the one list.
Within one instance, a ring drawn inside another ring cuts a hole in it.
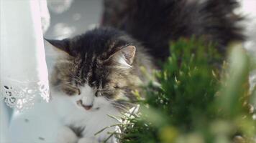
[{"label": "blurred green needle-like foliage in front of the cat", "polygon": [[242,45],[230,46],[227,61],[203,39],[180,39],[170,51],[157,83],[144,87],[140,112],[119,124],[119,141],[256,142],[256,90],[248,82],[255,65]]}]

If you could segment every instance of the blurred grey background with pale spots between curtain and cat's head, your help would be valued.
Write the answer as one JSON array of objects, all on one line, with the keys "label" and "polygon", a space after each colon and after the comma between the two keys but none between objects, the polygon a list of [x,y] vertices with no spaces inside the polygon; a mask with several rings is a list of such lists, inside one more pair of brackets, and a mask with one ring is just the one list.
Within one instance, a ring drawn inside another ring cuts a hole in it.
[{"label": "blurred grey background with pale spots between curtain and cat's head", "polygon": [[[101,21],[103,0],[48,0],[50,26],[45,31],[47,39],[64,39],[93,29]],[[49,73],[55,52],[45,42]]]}]

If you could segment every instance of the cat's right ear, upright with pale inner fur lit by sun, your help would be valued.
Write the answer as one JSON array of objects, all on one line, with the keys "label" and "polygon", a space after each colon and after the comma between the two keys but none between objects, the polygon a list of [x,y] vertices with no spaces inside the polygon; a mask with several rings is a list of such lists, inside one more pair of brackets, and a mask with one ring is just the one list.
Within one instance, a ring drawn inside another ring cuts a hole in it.
[{"label": "cat's right ear, upright with pale inner fur lit by sun", "polygon": [[134,56],[136,53],[135,46],[126,46],[116,51],[110,58],[122,66],[132,67]]}]

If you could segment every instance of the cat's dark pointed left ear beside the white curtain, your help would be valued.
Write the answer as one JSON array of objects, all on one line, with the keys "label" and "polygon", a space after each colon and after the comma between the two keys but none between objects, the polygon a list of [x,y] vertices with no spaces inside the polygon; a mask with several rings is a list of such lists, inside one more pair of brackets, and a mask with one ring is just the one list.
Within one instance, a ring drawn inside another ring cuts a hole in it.
[{"label": "cat's dark pointed left ear beside the white curtain", "polygon": [[52,46],[55,48],[64,51],[66,54],[69,54],[72,56],[72,53],[70,51],[70,39],[63,39],[63,40],[55,40],[55,39],[45,39],[48,41]]}]

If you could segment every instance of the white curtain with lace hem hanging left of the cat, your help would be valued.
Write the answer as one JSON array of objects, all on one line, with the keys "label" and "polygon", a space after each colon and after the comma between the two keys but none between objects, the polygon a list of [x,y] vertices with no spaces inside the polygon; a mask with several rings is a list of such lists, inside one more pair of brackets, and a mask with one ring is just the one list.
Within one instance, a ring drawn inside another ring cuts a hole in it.
[{"label": "white curtain with lace hem hanging left of the cat", "polygon": [[48,14],[46,1],[0,0],[0,6],[1,99],[17,110],[32,107],[36,97],[48,102],[41,23],[42,12]]}]

